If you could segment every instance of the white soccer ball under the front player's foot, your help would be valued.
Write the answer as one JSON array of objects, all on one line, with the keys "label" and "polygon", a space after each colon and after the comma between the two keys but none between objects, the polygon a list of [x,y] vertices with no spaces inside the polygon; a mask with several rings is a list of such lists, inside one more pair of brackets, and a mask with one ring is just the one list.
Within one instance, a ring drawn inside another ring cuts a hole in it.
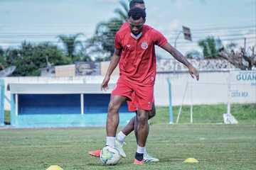
[{"label": "white soccer ball under the front player's foot", "polygon": [[100,152],[100,161],[105,165],[116,165],[120,159],[119,151],[115,148],[103,147]]}]

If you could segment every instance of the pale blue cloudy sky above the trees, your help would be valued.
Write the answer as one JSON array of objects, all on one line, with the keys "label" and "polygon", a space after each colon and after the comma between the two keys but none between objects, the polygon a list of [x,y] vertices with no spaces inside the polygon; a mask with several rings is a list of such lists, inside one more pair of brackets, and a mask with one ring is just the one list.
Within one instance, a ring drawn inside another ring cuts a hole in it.
[{"label": "pale blue cloudy sky above the trees", "polygon": [[[126,0],[124,0],[126,1]],[[161,31],[171,45],[182,26],[193,42],[179,36],[183,53],[200,50],[198,40],[213,35],[223,42],[256,45],[256,0],[145,0],[146,23]],[[84,33],[90,38],[100,21],[116,16],[119,0],[0,0],[0,46],[22,40],[58,42],[60,34]],[[161,52],[161,55],[167,54]]]}]

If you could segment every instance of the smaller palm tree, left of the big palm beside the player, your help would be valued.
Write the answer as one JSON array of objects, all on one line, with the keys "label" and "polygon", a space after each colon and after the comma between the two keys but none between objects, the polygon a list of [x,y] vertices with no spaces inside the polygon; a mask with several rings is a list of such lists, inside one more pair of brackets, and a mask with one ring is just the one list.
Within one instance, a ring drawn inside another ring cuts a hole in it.
[{"label": "smaller palm tree, left of the big palm beside the player", "polygon": [[77,33],[75,35],[58,35],[57,38],[60,42],[63,43],[65,50],[68,54],[68,57],[71,58],[72,61],[75,60],[75,49],[78,45],[82,46],[82,41],[78,40],[78,37],[83,35],[82,33]]}]

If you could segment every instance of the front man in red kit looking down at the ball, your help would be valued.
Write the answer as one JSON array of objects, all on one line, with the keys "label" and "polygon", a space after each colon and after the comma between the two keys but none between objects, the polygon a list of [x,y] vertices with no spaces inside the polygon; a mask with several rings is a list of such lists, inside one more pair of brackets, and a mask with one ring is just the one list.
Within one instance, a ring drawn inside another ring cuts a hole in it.
[{"label": "front man in red kit looking down at the ball", "polygon": [[146,13],[142,8],[129,11],[129,28],[121,29],[115,37],[115,52],[102,82],[106,89],[110,76],[119,64],[120,76],[116,88],[112,91],[107,113],[106,145],[115,146],[119,107],[125,101],[131,101],[137,108],[137,152],[134,164],[144,164],[144,147],[149,134],[149,111],[154,102],[154,81],[156,77],[156,55],[154,45],[162,47],[176,60],[188,67],[192,77],[199,79],[198,71],[167,42],[159,31],[144,25]]}]

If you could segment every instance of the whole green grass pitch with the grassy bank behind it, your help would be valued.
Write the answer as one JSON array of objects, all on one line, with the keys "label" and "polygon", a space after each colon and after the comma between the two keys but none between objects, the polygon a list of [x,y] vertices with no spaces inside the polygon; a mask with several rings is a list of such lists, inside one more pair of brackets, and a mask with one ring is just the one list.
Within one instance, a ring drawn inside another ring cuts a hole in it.
[{"label": "whole green grass pitch with the grassy bank behind it", "polygon": [[[225,106],[196,106],[195,124],[190,125],[189,108],[181,115],[181,125],[168,125],[167,108],[158,108],[151,121],[148,152],[158,163],[134,166],[134,134],[127,137],[127,158],[117,166],[102,166],[87,152],[105,145],[104,128],[8,129],[0,130],[1,170],[45,170],[58,164],[64,170],[75,169],[256,169],[255,105],[235,105],[232,112],[239,125],[222,122]],[[178,108],[174,108],[174,116]],[[8,115],[8,113],[6,113]],[[7,120],[8,121],[8,120]],[[194,157],[198,164],[184,164]]]}]

